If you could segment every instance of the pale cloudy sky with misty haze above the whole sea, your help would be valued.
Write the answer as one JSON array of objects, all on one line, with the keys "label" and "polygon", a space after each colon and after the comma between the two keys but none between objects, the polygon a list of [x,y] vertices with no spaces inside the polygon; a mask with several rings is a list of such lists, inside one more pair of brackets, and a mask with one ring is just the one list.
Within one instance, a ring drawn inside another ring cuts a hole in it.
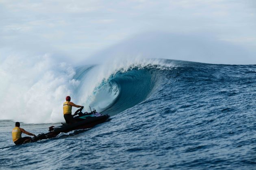
[{"label": "pale cloudy sky with misty haze above the whole sea", "polygon": [[0,59],[256,64],[255,0],[0,0]]}]

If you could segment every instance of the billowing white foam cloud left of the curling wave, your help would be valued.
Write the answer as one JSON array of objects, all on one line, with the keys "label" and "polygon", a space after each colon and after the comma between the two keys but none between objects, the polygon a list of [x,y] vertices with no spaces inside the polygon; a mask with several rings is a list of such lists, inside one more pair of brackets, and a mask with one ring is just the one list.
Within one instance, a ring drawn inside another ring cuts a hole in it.
[{"label": "billowing white foam cloud left of the curling wave", "polygon": [[80,83],[74,69],[50,55],[8,55],[0,64],[0,119],[24,123],[63,121],[63,98]]}]

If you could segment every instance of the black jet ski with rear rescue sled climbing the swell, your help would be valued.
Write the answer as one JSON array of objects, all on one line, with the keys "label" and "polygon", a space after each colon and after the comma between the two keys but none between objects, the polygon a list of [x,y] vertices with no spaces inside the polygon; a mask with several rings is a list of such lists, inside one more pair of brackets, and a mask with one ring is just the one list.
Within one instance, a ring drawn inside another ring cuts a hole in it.
[{"label": "black jet ski with rear rescue sled climbing the swell", "polygon": [[76,120],[76,123],[72,124],[67,124],[67,123],[62,123],[60,126],[51,126],[49,127],[49,132],[46,134],[39,134],[35,137],[33,137],[30,142],[36,142],[38,140],[42,139],[48,139],[48,138],[54,138],[61,132],[66,133],[72,130],[78,130],[78,129],[88,129],[91,128],[99,123],[103,123],[108,120],[110,117],[109,115],[102,115],[98,112],[96,112],[95,109],[91,111],[91,113],[82,113],[82,108],[78,109],[75,113],[77,115],[74,117]]}]

